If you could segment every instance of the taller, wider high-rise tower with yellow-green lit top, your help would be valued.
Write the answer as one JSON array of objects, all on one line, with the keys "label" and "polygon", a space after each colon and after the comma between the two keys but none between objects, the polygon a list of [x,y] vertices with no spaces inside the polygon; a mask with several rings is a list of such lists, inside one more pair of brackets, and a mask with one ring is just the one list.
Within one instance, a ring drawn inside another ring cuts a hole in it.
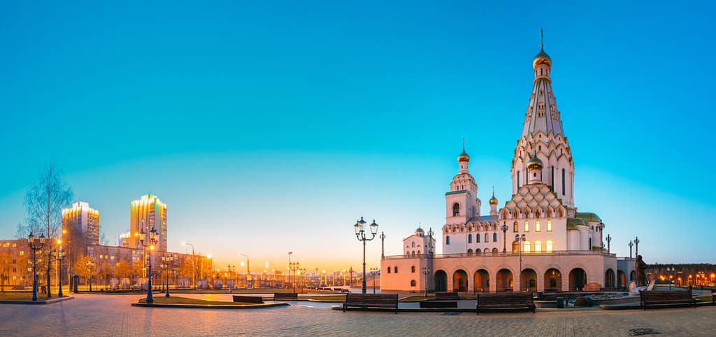
[{"label": "taller, wider high-rise tower with yellow-green lit top", "polygon": [[[144,231],[150,232],[154,228],[159,234],[157,250],[167,250],[167,204],[159,200],[156,195],[142,195],[139,200],[130,202],[130,248],[139,248],[139,235]],[[148,238],[148,236],[147,236]]]}]

